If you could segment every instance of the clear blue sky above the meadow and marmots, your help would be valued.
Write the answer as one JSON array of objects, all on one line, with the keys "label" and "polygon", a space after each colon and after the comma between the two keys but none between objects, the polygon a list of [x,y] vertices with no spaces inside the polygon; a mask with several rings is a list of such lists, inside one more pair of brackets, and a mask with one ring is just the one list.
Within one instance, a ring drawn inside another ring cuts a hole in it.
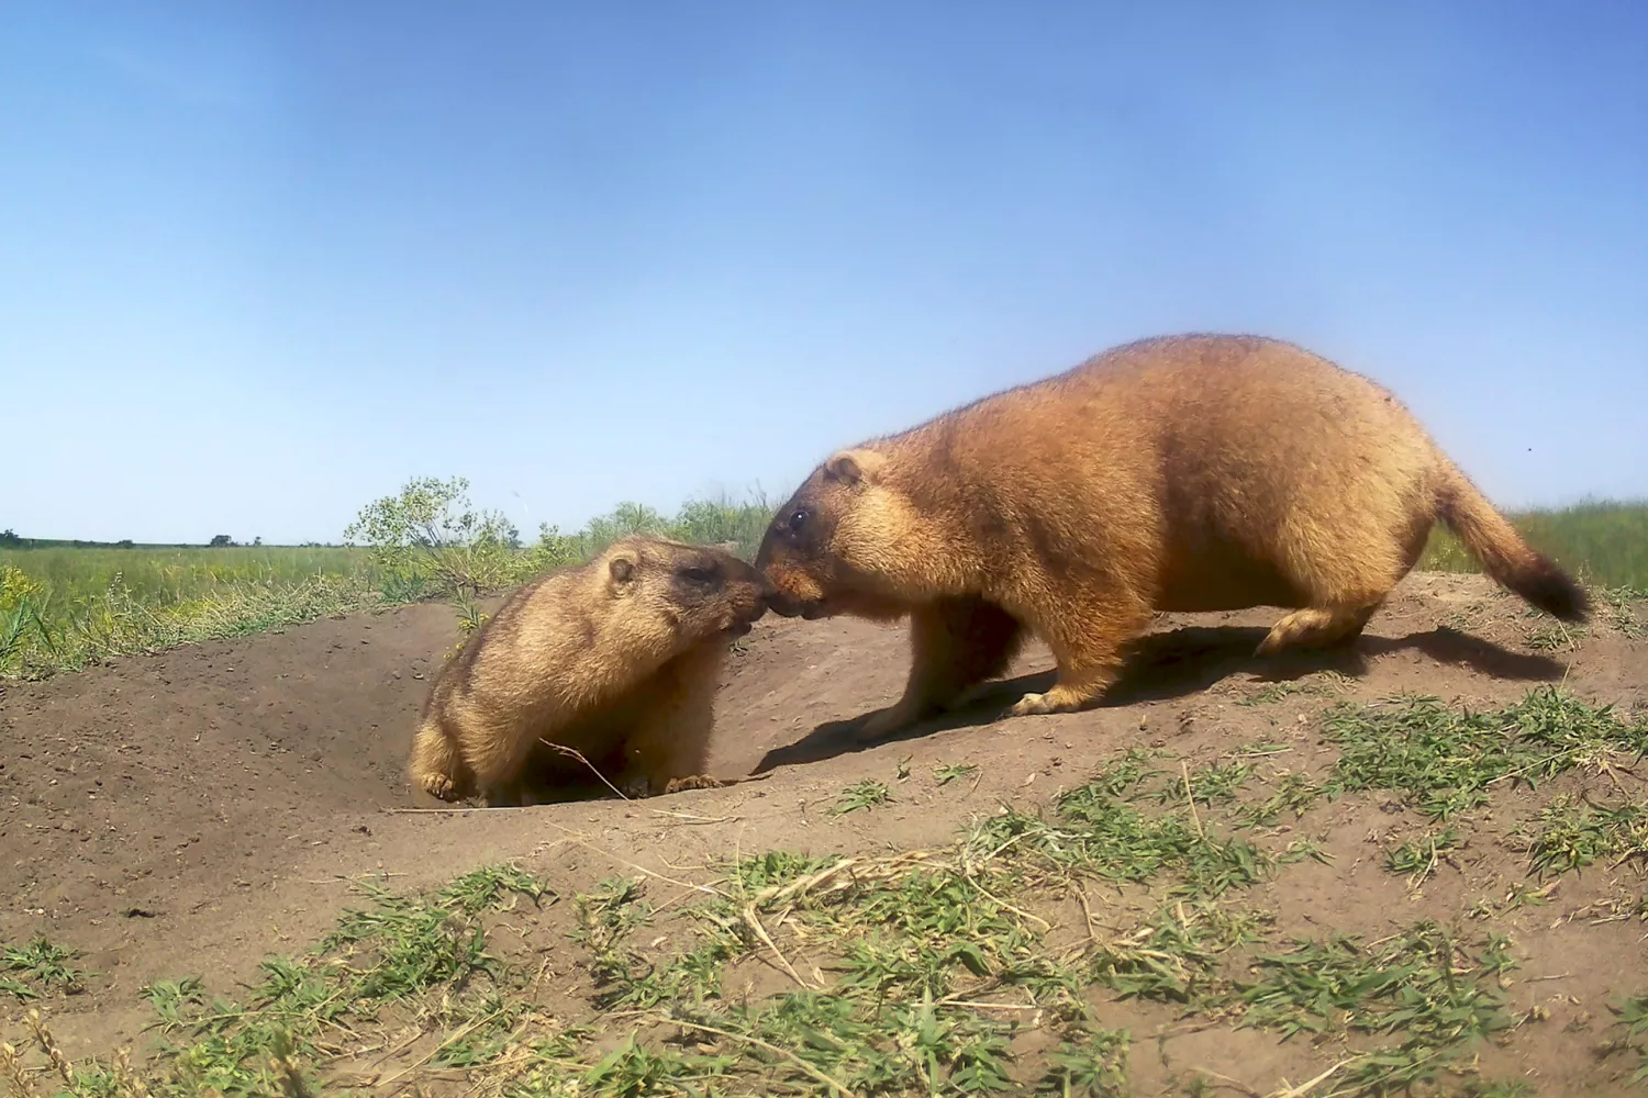
[{"label": "clear blue sky above the meadow and marmots", "polygon": [[1116,342],[1648,495],[1648,5],[0,3],[0,527],[760,486]]}]

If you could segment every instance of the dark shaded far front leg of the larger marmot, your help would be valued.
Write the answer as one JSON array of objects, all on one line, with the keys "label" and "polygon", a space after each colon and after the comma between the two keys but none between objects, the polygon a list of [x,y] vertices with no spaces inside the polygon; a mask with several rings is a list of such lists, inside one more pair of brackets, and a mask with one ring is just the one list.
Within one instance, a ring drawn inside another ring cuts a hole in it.
[{"label": "dark shaded far front leg of the larger marmot", "polygon": [[1018,655],[1025,629],[979,596],[934,599],[910,612],[910,678],[903,696],[859,726],[880,739],[949,708],[971,686],[1000,677]]}]

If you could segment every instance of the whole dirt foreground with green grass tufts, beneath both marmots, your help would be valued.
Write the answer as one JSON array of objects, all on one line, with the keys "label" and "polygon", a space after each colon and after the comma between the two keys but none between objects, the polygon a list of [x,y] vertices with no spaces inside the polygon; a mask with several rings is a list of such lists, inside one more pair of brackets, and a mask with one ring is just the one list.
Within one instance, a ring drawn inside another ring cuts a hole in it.
[{"label": "whole dirt foreground with green grass tufts, beneath both marmots", "polygon": [[448,607],[7,685],[12,1085],[171,1045],[148,1093],[1641,1093],[1648,606],[1416,575],[1256,662],[1276,616],[1000,721],[1037,649],[870,747],[903,630],[763,621],[714,767],[766,780],[509,812],[402,774]]}]

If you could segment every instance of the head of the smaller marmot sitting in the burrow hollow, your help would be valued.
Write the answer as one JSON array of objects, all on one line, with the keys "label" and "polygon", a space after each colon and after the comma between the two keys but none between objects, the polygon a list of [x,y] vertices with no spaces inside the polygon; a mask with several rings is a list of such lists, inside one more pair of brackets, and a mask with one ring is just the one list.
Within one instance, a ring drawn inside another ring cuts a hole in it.
[{"label": "head of the smaller marmot sitting in the burrow hollow", "polygon": [[613,599],[653,611],[677,644],[742,637],[766,612],[761,575],[727,550],[631,535],[597,565]]}]

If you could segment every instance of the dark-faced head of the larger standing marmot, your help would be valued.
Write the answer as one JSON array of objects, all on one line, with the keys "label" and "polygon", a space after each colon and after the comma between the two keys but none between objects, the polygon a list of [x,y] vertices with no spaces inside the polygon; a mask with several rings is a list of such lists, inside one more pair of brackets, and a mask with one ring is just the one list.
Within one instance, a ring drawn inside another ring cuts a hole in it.
[{"label": "dark-faced head of the larger standing marmot", "polygon": [[903,561],[908,500],[885,482],[887,456],[844,449],[803,481],[778,509],[755,566],[766,606],[784,617],[897,619],[906,606],[890,583]]}]

